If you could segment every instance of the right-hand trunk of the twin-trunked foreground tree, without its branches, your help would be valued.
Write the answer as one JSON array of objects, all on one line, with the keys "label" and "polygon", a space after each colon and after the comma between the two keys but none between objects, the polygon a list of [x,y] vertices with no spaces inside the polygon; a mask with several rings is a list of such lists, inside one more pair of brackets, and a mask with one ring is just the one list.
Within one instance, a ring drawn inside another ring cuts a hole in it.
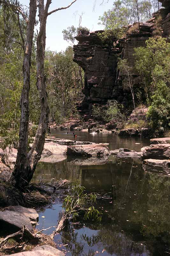
[{"label": "right-hand trunk of the twin-trunked foreground tree, without its branches", "polygon": [[41,153],[44,148],[45,135],[48,126],[49,108],[48,108],[48,97],[46,92],[46,84],[44,77],[44,55],[45,55],[45,44],[46,44],[46,21],[48,16],[48,8],[51,1],[48,0],[44,9],[44,0],[39,0],[39,20],[40,20],[40,32],[37,37],[37,87],[40,95],[41,104],[41,117],[39,126],[35,135],[33,146],[28,153],[28,162],[31,167],[31,172],[28,177],[30,181],[33,177],[33,173],[36,168],[36,164],[41,158]]}]

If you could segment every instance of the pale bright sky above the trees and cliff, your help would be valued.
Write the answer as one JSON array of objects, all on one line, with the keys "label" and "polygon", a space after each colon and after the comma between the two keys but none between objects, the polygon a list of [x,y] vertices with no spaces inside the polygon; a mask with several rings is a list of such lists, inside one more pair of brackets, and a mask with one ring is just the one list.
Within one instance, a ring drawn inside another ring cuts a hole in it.
[{"label": "pale bright sky above the trees and cliff", "polygon": [[[48,16],[46,27],[46,49],[51,51],[60,52],[64,51],[69,44],[63,40],[63,29],[74,25],[78,27],[79,16],[76,13],[82,14],[81,26],[87,27],[90,31],[103,29],[101,25],[98,25],[99,16],[104,11],[112,8],[113,0],[104,0],[104,3],[100,5],[102,0],[97,0],[95,10],[93,11],[94,0],[77,0],[70,8],[55,12]],[[52,0],[49,11],[59,7],[67,6],[72,0]],[[20,3],[29,6],[29,0],[20,0]]]}]

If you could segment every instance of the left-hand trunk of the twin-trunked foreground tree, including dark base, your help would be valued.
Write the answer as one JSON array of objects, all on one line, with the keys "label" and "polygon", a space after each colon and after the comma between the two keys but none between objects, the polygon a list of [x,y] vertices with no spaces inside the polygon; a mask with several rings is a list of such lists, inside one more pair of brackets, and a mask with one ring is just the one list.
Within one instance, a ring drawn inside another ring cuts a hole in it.
[{"label": "left-hand trunk of the twin-trunked foreground tree, including dark base", "polygon": [[33,31],[35,17],[37,12],[37,1],[30,0],[29,20],[26,34],[26,44],[23,60],[23,90],[20,99],[21,119],[19,129],[19,145],[18,154],[14,171],[8,178],[8,181],[14,186],[22,186],[28,184],[27,174],[29,173],[28,164],[28,124],[29,124],[29,90],[30,90],[30,66],[31,53],[33,46]]}]

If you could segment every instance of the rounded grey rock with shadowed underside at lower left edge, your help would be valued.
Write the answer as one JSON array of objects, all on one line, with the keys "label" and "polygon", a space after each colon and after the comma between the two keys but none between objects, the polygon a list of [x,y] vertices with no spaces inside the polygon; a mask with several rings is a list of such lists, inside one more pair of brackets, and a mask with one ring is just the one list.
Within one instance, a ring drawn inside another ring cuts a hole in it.
[{"label": "rounded grey rock with shadowed underside at lower left edge", "polygon": [[5,210],[0,212],[0,227],[2,230],[9,230],[11,233],[14,231],[19,231],[23,228],[23,224],[30,232],[33,232],[33,227],[31,225],[30,219],[18,212]]}]

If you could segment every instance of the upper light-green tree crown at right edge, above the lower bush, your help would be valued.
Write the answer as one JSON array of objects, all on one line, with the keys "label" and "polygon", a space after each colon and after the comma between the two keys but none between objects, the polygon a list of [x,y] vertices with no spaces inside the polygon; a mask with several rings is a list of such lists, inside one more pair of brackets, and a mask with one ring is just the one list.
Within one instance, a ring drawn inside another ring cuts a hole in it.
[{"label": "upper light-green tree crown at right edge, above the lower bush", "polygon": [[149,103],[160,81],[170,83],[170,43],[158,37],[146,40],[146,47],[135,49],[135,67],[144,77],[146,98]]}]

